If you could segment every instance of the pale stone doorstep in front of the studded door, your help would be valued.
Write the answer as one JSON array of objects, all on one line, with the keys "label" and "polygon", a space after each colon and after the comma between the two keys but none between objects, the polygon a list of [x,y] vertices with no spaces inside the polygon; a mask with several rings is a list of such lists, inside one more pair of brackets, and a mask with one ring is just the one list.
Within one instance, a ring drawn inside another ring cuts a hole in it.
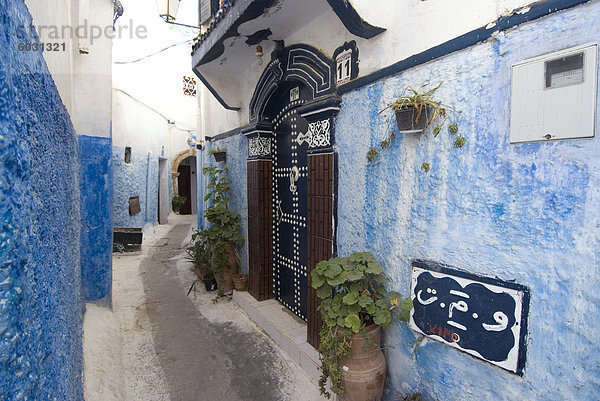
[{"label": "pale stone doorstep in front of the studded door", "polygon": [[306,323],[274,299],[257,301],[246,291],[234,291],[238,304],[308,375],[319,383],[319,353],[306,342]]}]

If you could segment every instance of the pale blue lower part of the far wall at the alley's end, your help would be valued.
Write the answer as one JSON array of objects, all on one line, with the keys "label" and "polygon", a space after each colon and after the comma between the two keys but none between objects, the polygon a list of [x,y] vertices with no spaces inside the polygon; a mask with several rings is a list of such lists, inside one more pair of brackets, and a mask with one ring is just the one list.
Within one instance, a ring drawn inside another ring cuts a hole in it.
[{"label": "pale blue lower part of the far wall at the alley's end", "polygon": [[[114,179],[113,225],[140,227],[158,223],[158,157],[131,151],[131,163],[125,163],[125,148],[113,146]],[[129,215],[129,198],[139,196],[142,211]]]}]

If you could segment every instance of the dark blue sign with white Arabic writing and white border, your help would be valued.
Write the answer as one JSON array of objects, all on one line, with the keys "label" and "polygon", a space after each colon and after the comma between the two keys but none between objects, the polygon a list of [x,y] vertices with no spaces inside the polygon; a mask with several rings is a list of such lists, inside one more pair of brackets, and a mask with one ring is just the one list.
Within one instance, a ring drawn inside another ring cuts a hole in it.
[{"label": "dark blue sign with white Arabic writing and white border", "polygon": [[412,328],[520,374],[526,289],[436,267],[413,265]]}]

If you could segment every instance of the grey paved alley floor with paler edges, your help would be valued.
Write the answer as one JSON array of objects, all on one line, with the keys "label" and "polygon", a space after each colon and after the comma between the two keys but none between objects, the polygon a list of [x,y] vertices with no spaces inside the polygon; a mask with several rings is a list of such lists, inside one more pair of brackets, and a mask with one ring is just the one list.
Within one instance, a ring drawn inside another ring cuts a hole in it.
[{"label": "grey paved alley floor with paler edges", "polygon": [[115,254],[112,316],[96,305],[86,312],[86,400],[321,400],[229,299],[213,302],[203,285],[186,296],[195,273],[182,244],[194,221],[172,216],[144,236],[141,253]]}]

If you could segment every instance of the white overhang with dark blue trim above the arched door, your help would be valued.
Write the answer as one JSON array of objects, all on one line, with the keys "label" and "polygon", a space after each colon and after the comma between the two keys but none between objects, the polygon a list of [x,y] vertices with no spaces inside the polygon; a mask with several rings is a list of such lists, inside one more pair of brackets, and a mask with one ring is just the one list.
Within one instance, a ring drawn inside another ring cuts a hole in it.
[{"label": "white overhang with dark blue trim above the arched door", "polygon": [[[270,57],[277,52],[276,43],[288,40],[319,18],[325,18],[327,25],[339,26],[336,32],[346,32],[346,39],[336,37],[336,45],[340,40],[343,43],[352,37],[370,39],[385,31],[364,21],[348,0],[235,0],[229,4],[200,36],[192,52],[194,72],[229,110],[242,106],[239,88],[244,86],[249,67],[257,62],[256,45],[264,48],[267,65],[279,58],[278,54]],[[331,57],[335,47],[327,50],[331,50],[326,52]]]}]

